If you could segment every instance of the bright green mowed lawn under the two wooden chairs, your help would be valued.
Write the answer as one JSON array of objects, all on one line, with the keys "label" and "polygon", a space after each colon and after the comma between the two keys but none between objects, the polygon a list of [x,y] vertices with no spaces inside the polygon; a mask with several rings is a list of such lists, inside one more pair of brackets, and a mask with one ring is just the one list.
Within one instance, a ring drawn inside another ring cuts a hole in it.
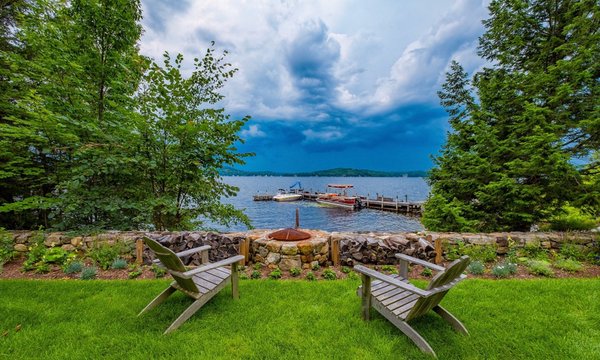
[{"label": "bright green mowed lawn under the two wooden chairs", "polygon": [[[374,310],[361,320],[358,281],[241,281],[239,301],[224,289],[163,336],[191,299],[136,315],[167,284],[0,281],[0,358],[430,358]],[[414,321],[440,359],[600,359],[600,279],[467,280],[442,305],[471,336]]]}]

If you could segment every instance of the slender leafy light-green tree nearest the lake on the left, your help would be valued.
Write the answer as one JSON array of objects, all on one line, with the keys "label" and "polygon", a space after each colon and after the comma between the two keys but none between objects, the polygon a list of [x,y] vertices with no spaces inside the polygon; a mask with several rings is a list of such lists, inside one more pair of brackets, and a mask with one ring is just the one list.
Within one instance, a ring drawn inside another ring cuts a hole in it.
[{"label": "slender leafy light-green tree nearest the lake on the left", "polygon": [[[226,53],[225,53],[226,54]],[[225,55],[224,54],[224,55]],[[152,223],[158,230],[197,225],[200,216],[222,223],[248,218],[220,198],[237,188],[221,181],[223,165],[242,164],[249,154],[236,153],[238,131],[249,119],[232,120],[216,104],[219,90],[236,69],[209,48],[194,59],[189,77],[181,74],[183,56],[164,54],[163,67],[152,63],[139,95],[143,176],[151,195]]]}]

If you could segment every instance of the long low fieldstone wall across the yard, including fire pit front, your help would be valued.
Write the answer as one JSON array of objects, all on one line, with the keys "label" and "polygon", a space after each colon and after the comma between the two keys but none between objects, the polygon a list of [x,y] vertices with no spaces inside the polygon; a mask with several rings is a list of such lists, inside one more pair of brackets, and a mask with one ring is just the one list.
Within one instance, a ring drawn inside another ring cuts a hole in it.
[{"label": "long low fieldstone wall across the yard, including fire pit front", "polygon": [[[216,234],[211,232],[141,232],[109,231],[97,235],[70,236],[65,233],[46,233],[44,244],[60,246],[68,251],[85,251],[96,244],[122,243],[124,251],[135,254],[136,242],[144,235],[153,237],[175,252],[201,245],[210,245],[210,261],[218,261],[242,253],[250,262],[260,262],[282,270],[292,267],[310,267],[315,263],[325,265],[395,264],[396,253],[404,253],[424,260],[433,261],[435,244],[491,245],[498,255],[506,254],[509,246],[539,244],[547,249],[560,249],[561,244],[571,243],[582,250],[598,246],[600,234],[594,232],[506,232],[506,233],[346,233],[305,230],[311,233],[308,240],[282,242],[268,238],[273,230],[251,230],[240,233]],[[35,242],[37,232],[11,231],[14,248],[26,253]],[[144,250],[143,261],[148,263],[151,253]],[[187,263],[197,264],[198,256],[188,257]]]}]

